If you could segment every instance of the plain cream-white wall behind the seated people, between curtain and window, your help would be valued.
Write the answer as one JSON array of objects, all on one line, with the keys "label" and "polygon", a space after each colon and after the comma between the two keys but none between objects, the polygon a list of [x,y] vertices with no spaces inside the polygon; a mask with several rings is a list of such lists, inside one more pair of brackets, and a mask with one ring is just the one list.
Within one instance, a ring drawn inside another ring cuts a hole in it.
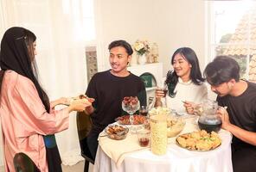
[{"label": "plain cream-white wall behind the seated people, between curtain and window", "polygon": [[[204,66],[204,16],[202,0],[96,0],[99,69],[108,68],[107,46],[124,39],[157,42],[163,76],[170,70],[170,57],[181,46],[195,50]],[[104,63],[100,62],[100,58]],[[203,70],[203,69],[202,69]]]}]

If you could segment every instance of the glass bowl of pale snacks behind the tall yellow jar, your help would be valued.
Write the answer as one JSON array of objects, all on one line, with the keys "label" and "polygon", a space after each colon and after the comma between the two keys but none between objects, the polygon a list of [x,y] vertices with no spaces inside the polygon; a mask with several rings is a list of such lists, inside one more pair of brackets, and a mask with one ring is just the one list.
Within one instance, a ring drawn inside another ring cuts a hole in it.
[{"label": "glass bowl of pale snacks behind the tall yellow jar", "polygon": [[167,117],[167,137],[175,137],[180,132],[182,132],[185,125],[186,122],[182,118],[169,115]]}]

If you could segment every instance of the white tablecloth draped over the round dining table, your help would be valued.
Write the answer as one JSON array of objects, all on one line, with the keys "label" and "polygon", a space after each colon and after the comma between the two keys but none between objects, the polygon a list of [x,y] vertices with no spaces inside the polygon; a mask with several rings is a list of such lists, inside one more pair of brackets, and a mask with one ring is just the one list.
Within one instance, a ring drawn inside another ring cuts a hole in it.
[{"label": "white tablecloth draped over the round dining table", "polygon": [[[198,130],[195,119],[186,119],[182,133]],[[189,151],[176,144],[176,138],[169,138],[167,152],[163,156],[154,155],[150,148],[132,151],[123,156],[122,163],[112,158],[118,144],[98,147],[94,172],[232,172],[230,132],[218,132],[221,145],[212,151]],[[127,136],[129,137],[129,136]],[[105,138],[106,139],[106,138]],[[126,138],[125,138],[126,139]],[[125,144],[122,140],[120,144]],[[102,143],[102,142],[101,142]],[[125,145],[127,147],[127,145]],[[129,146],[129,144],[128,144]],[[104,147],[104,148],[102,148]],[[105,149],[105,150],[104,150]],[[107,154],[106,154],[107,152]]]}]

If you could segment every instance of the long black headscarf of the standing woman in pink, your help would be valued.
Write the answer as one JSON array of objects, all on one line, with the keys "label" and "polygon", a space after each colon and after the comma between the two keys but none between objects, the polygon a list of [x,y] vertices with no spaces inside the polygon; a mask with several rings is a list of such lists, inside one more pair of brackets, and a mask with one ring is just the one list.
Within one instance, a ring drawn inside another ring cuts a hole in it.
[{"label": "long black headscarf of the standing woman in pink", "polygon": [[[48,95],[38,82],[38,72],[35,63],[34,46],[36,37],[26,28],[9,28],[1,41],[0,51],[0,91],[2,92],[3,77],[6,70],[16,71],[28,77],[34,84],[43,105],[49,112],[50,104]],[[1,95],[0,92],[0,95]]]}]

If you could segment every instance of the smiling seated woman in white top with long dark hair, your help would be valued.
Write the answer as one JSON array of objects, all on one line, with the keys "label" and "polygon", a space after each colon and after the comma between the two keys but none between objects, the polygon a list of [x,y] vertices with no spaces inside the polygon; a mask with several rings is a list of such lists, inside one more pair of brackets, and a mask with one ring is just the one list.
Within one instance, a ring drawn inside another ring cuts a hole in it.
[{"label": "smiling seated woman in white top with long dark hair", "polygon": [[[202,77],[198,58],[189,47],[181,47],[171,57],[173,71],[167,73],[165,84],[168,88],[166,104],[178,113],[186,112],[183,102],[190,106],[191,102],[200,103],[207,99],[208,92]],[[157,89],[156,104],[163,97],[163,91]]]}]

